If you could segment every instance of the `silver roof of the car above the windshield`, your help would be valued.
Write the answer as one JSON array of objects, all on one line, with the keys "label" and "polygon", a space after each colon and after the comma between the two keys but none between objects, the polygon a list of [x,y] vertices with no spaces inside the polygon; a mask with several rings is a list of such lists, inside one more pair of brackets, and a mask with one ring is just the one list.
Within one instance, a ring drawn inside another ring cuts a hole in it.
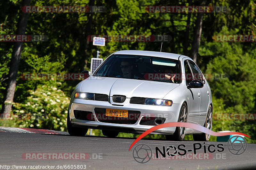
[{"label": "silver roof of the car above the windshield", "polygon": [[[156,51],[143,51],[143,50],[122,50],[122,51],[117,51],[114,54],[145,55],[145,56],[171,58],[175,60],[178,60],[179,56],[184,56],[180,54],[164,53],[164,52],[156,52]],[[187,57],[187,56],[184,56],[184,57]]]}]

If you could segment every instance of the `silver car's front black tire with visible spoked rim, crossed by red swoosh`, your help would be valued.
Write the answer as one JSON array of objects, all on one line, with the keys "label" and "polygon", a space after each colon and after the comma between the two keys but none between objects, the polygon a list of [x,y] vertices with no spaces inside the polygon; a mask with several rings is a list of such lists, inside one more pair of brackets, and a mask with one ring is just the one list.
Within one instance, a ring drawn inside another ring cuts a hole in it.
[{"label": "silver car's front black tire with visible spoked rim, crossed by red swoosh", "polygon": [[[183,120],[181,120],[181,115],[182,115],[182,111],[184,111],[183,109],[185,109],[185,117],[182,118]],[[180,108],[180,115],[179,115],[179,119],[178,122],[187,122],[187,116],[188,116],[188,109],[187,109],[187,105],[185,103],[182,104],[181,108]],[[182,131],[182,135],[180,134]],[[182,141],[184,139],[185,133],[186,133],[186,128],[181,128],[180,127],[176,127],[175,132],[173,133],[173,135],[165,135],[165,138],[167,140],[170,141]]]}]

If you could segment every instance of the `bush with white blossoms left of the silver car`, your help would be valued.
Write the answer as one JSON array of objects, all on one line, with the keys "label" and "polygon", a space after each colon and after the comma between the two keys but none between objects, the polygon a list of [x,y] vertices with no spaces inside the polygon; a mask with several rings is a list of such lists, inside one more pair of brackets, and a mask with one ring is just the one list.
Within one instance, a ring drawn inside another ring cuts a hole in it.
[{"label": "bush with white blossoms left of the silver car", "polygon": [[28,114],[29,120],[18,120],[14,126],[67,131],[69,98],[53,86],[39,85],[35,91],[28,92],[30,96],[22,103],[14,103],[12,111]]}]

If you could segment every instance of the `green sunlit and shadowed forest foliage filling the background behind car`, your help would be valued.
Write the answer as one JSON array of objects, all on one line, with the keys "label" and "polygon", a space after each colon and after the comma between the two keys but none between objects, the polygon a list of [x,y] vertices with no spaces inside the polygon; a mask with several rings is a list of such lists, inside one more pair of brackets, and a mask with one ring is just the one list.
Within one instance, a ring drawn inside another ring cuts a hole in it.
[{"label": "green sunlit and shadowed forest foliage filling the background behind car", "polygon": [[[23,44],[12,113],[29,113],[24,121],[0,121],[0,126],[44,128],[66,131],[66,117],[71,92],[80,80],[22,80],[22,73],[80,73],[90,70],[90,61],[105,59],[118,50],[159,51],[160,42],[106,42],[93,46],[86,37],[95,35],[171,35],[162,52],[190,55],[197,13],[148,13],[148,5],[198,5],[194,0],[31,0],[35,6],[88,5],[105,6],[104,13],[30,13],[26,34],[47,35],[46,42]],[[203,73],[226,74],[226,78],[208,80],[212,89],[213,114],[255,113],[256,42],[216,42],[219,34],[255,35],[255,1],[210,0],[208,6],[228,6],[227,12],[204,13],[197,64]],[[15,34],[22,0],[0,2],[0,35]],[[90,20],[91,18],[91,20]],[[187,28],[187,29],[186,29]],[[186,33],[185,33],[186,32]],[[184,42],[186,41],[186,42]],[[185,45],[185,44],[188,45]],[[0,43],[0,109],[7,85],[13,42]],[[40,119],[38,119],[38,116]],[[256,142],[255,121],[213,121],[213,130],[230,130],[251,136]],[[89,131],[88,131],[89,133]],[[102,135],[93,130],[94,135]],[[138,134],[120,133],[119,137]],[[149,138],[164,138],[149,135]],[[191,135],[185,139],[192,140]],[[210,140],[216,140],[211,137]]]}]

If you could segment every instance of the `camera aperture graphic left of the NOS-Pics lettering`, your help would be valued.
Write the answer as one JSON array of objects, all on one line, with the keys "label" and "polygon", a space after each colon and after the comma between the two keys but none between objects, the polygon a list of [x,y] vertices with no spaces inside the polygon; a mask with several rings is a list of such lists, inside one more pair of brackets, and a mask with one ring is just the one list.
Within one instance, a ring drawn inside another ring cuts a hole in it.
[{"label": "camera aperture graphic left of the NOS-Pics lettering", "polygon": [[152,158],[152,150],[146,144],[139,144],[133,149],[132,156],[136,162],[144,164]]}]

